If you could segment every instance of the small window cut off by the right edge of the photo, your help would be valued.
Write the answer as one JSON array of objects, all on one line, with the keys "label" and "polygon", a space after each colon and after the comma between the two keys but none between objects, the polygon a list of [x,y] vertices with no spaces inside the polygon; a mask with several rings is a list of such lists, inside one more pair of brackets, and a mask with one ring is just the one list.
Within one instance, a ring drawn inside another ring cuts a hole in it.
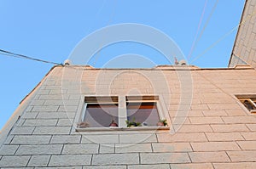
[{"label": "small window cut off by the right edge of the photo", "polygon": [[236,96],[247,110],[251,113],[256,113],[256,96],[253,95],[239,95]]}]

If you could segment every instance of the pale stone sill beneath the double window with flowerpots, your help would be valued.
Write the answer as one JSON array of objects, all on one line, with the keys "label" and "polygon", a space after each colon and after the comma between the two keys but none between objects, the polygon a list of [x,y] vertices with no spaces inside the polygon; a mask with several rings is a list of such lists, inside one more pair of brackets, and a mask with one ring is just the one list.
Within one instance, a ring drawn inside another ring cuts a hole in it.
[{"label": "pale stone sill beneath the double window with flowerpots", "polygon": [[170,127],[77,127],[76,132],[170,130]]}]

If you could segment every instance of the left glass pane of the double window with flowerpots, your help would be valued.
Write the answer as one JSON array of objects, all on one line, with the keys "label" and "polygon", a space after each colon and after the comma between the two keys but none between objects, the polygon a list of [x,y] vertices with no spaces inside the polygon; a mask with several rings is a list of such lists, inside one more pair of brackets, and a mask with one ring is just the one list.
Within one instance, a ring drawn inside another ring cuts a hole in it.
[{"label": "left glass pane of the double window with flowerpots", "polygon": [[87,104],[84,122],[88,127],[109,127],[112,121],[119,123],[117,104]]}]

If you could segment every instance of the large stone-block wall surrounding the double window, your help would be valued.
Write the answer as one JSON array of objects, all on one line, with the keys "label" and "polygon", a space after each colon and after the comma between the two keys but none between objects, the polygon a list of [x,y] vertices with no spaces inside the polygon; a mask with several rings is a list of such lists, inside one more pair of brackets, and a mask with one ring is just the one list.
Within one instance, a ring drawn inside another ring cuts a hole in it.
[{"label": "large stone-block wall surrounding the double window", "polygon": [[[256,116],[234,96],[256,94],[256,70],[160,69],[55,67],[2,135],[0,167],[256,168]],[[75,132],[84,96],[105,94],[159,95],[176,133]]]}]

